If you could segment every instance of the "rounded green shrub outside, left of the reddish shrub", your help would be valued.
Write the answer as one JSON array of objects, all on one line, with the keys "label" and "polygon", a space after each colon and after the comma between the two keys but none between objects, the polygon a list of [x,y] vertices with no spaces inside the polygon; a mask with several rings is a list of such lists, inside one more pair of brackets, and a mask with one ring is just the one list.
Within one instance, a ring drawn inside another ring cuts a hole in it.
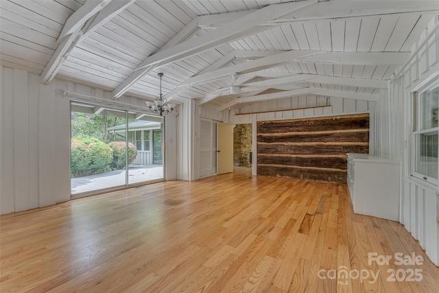
[{"label": "rounded green shrub outside, left of the reddish shrub", "polygon": [[110,171],[111,148],[98,139],[71,140],[71,175],[87,176]]}]

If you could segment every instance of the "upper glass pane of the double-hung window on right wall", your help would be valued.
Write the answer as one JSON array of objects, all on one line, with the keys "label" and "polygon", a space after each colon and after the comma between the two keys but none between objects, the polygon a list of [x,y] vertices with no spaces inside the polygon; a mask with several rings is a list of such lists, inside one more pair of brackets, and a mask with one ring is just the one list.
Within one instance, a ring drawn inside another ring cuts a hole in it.
[{"label": "upper glass pane of the double-hung window on right wall", "polygon": [[420,94],[421,130],[438,127],[439,84]]}]

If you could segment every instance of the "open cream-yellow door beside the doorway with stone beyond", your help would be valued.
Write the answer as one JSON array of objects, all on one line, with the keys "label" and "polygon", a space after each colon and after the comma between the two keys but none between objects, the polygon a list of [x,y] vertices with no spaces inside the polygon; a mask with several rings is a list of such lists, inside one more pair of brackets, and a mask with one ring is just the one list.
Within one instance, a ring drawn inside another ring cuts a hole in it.
[{"label": "open cream-yellow door beside the doorway with stone beyond", "polygon": [[217,174],[233,172],[233,124],[218,123]]}]

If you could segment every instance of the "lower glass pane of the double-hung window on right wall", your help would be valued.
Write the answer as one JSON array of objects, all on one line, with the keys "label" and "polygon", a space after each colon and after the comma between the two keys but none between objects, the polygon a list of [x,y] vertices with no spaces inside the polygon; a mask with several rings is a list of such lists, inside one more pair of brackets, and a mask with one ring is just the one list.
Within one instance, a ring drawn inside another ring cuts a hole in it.
[{"label": "lower glass pane of the double-hung window on right wall", "polygon": [[438,132],[416,134],[415,171],[438,178]]}]

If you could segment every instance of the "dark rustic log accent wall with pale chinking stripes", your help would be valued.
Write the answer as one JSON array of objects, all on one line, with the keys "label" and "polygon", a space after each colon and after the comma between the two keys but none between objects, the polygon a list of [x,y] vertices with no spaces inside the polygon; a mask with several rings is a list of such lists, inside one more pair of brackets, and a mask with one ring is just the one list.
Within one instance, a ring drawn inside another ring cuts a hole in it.
[{"label": "dark rustic log accent wall with pale chinking stripes", "polygon": [[257,174],[346,183],[347,153],[369,152],[369,114],[257,123]]}]

